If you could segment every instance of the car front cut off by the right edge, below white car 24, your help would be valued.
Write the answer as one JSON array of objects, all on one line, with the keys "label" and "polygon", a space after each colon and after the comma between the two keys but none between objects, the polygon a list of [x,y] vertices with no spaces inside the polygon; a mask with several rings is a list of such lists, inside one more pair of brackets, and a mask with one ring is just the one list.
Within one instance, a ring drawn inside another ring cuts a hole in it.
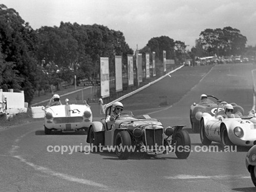
[{"label": "car front cut off by the right edge, below white car 24", "polygon": [[245,165],[256,187],[256,145],[252,146],[245,157]]}]

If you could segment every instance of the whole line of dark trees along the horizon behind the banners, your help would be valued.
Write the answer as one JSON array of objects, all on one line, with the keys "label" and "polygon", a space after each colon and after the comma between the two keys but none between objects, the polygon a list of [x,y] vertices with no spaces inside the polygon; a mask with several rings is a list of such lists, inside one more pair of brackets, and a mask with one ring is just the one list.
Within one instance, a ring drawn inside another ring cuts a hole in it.
[{"label": "whole line of dark trees along the horizon behind the banners", "polygon": [[[71,81],[74,75],[78,80],[98,77],[100,57],[114,60],[115,55],[126,58],[127,54],[134,54],[121,31],[102,25],[61,22],[59,27],[34,30],[18,12],[3,4],[0,23],[0,88],[24,90],[28,103],[35,90],[47,90],[51,84],[58,86],[61,81]],[[148,40],[139,52],[156,52],[156,63],[161,62],[163,50],[166,59],[177,62],[198,54],[242,53],[246,37],[237,29],[224,29],[201,32],[194,52],[187,52],[185,42],[168,36]]]}]

